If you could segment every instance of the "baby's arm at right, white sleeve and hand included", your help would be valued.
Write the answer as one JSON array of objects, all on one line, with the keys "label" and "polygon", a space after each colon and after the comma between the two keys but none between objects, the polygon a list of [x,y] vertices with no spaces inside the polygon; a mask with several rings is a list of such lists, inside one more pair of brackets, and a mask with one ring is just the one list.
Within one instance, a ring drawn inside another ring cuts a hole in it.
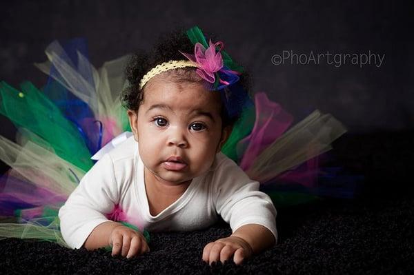
[{"label": "baby's arm at right, white sleeve and hand included", "polygon": [[217,213],[230,223],[233,234],[208,243],[204,261],[224,262],[234,254],[239,264],[277,243],[277,211],[270,197],[259,191],[259,182],[249,179],[240,167],[226,159],[220,163],[212,186]]}]

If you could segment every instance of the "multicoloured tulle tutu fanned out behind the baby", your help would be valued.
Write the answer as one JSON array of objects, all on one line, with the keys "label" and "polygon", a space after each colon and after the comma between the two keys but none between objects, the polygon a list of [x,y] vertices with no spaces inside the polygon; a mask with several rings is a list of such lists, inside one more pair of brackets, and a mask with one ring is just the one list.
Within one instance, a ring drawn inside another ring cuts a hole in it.
[{"label": "multicoloured tulle tutu fanned out behind the baby", "polygon": [[[35,64],[49,75],[41,90],[29,82],[19,90],[0,83],[0,112],[18,129],[16,143],[0,136],[0,159],[11,167],[0,181],[0,239],[34,238],[69,247],[59,230],[59,208],[92,159],[130,135],[119,97],[128,86],[128,55],[97,70],[83,39],[55,41],[46,55],[48,61]],[[340,167],[321,163],[329,159],[331,143],[346,132],[344,125],[318,110],[292,123],[281,105],[256,93],[222,152],[261,183],[276,207],[324,196],[352,198],[356,178],[339,176]],[[117,209],[106,216],[129,225]]]}]

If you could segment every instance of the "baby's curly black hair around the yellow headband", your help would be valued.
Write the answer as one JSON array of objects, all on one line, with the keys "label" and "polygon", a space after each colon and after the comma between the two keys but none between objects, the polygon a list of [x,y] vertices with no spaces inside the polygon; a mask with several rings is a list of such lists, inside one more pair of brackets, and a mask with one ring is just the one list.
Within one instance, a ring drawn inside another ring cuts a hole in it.
[{"label": "baby's curly black hair around the yellow headband", "polygon": [[[216,41],[214,34],[208,34],[208,38]],[[161,34],[155,47],[149,52],[139,50],[135,54],[132,54],[125,70],[126,79],[128,80],[129,85],[121,93],[121,101],[125,108],[129,110],[139,109],[139,105],[144,99],[144,88],[142,88],[142,90],[139,89],[139,83],[142,77],[156,65],[170,60],[186,59],[179,51],[188,53],[194,52],[194,45],[190,39],[188,39],[184,28]],[[196,81],[194,77],[190,77],[190,74],[186,74],[186,72],[193,71],[195,68],[179,68],[176,70],[181,70],[184,73],[179,74],[179,79],[175,79],[175,81]],[[239,78],[239,84],[242,85],[244,90],[250,91],[250,74],[245,70]],[[221,107],[222,126],[233,126],[237,119],[239,119],[239,115],[230,118],[224,105]]]}]

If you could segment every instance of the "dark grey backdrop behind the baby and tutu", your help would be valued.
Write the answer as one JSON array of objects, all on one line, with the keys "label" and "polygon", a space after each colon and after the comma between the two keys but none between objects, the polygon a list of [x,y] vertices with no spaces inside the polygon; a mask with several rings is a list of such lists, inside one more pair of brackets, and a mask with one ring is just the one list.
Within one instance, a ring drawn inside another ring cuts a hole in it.
[{"label": "dark grey backdrop behind the baby and tutu", "polygon": [[[217,34],[250,69],[255,92],[267,92],[296,121],[319,109],[351,133],[413,128],[414,25],[408,3],[241,2],[8,1],[1,4],[0,79],[44,85],[46,75],[32,63],[46,60],[43,50],[54,39],[85,37],[90,60],[99,67],[150,48],[160,31],[198,25]],[[298,60],[275,65],[275,54],[297,54]],[[0,134],[12,139],[12,124],[3,117],[0,123]]]}]

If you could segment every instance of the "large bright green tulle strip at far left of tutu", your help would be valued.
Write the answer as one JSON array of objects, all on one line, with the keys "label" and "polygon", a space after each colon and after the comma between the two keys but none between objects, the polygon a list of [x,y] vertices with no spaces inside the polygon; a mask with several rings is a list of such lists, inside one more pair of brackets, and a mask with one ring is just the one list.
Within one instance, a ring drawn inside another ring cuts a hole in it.
[{"label": "large bright green tulle strip at far left of tutu", "polygon": [[85,171],[92,167],[90,152],[79,130],[32,83],[22,83],[19,91],[1,81],[0,93],[0,113],[17,128],[26,128],[43,139],[26,136],[26,140],[43,146],[46,141],[62,159]]}]

